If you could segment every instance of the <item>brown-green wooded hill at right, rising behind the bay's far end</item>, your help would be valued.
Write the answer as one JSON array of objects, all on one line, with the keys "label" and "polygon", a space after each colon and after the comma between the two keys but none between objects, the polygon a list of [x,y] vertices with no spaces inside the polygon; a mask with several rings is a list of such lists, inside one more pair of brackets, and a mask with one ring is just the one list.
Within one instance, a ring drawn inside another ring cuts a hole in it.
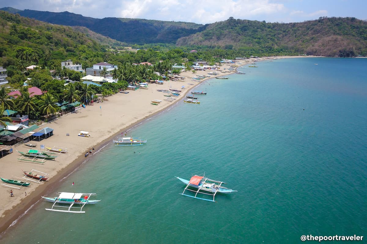
[{"label": "brown-green wooded hill at right, rising behind the bay's far end", "polygon": [[245,47],[261,53],[366,56],[367,22],[356,18],[320,18],[302,23],[266,23],[231,17],[180,38],[177,45]]}]

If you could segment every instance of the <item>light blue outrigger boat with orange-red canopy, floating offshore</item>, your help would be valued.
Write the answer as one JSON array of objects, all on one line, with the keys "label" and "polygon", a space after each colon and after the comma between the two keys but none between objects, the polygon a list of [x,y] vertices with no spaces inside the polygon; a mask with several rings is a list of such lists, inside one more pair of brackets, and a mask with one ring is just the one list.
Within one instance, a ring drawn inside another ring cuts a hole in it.
[{"label": "light blue outrigger boat with orange-red canopy, floating offshore", "polygon": [[[185,180],[185,179],[182,179],[182,178],[177,177],[177,176],[175,176],[175,177],[186,184],[185,189],[180,194],[184,195],[184,196],[189,196],[190,198],[197,198],[197,199],[201,199],[201,200],[215,202],[214,198],[215,198],[215,195],[218,192],[219,193],[224,193],[224,194],[227,194],[227,193],[230,193],[230,192],[236,192],[235,190],[232,190],[232,189],[229,189],[229,188],[226,188],[226,187],[222,186],[222,184],[227,184],[227,183],[224,183],[223,181],[211,180],[211,179],[209,179],[205,176],[195,175],[195,176],[192,176],[190,180]],[[194,187],[194,188],[197,188],[197,190],[189,189],[188,187]],[[186,190],[194,192],[195,196],[185,194]],[[213,200],[205,199],[205,198],[199,198],[199,197],[197,197],[198,193],[213,196]]]}]

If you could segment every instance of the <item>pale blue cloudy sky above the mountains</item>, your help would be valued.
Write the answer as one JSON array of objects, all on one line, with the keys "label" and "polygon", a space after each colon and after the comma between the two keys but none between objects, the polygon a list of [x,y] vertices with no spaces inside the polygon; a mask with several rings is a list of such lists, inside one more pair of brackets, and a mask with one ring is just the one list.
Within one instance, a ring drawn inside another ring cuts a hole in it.
[{"label": "pale blue cloudy sky above the mountains", "polygon": [[0,8],[199,24],[235,19],[303,22],[328,17],[367,20],[367,0],[0,0]]}]

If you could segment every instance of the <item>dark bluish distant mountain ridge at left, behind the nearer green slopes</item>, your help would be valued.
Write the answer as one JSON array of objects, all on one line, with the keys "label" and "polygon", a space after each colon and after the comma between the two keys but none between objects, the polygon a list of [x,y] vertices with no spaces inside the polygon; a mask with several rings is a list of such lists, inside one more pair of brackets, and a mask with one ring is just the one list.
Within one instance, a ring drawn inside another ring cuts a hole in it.
[{"label": "dark bluish distant mountain ridge at left, behind the nearer green slopes", "polygon": [[1,10],[57,25],[84,26],[128,44],[175,43],[180,37],[205,29],[203,25],[189,22],[126,18],[95,19],[70,12],[22,11],[14,8],[1,8]]}]

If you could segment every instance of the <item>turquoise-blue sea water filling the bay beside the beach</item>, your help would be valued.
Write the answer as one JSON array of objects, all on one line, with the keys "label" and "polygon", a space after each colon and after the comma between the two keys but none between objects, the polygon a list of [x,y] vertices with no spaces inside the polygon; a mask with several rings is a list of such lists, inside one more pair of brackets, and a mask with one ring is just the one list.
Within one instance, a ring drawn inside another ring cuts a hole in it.
[{"label": "turquoise-blue sea water filling the bay beside the beach", "polygon": [[[318,65],[313,65],[317,63]],[[367,236],[367,59],[302,58],[211,79],[106,145],[59,191],[95,192],[85,214],[40,201],[1,243],[301,243]],[[134,153],[135,151],[135,153]],[[51,162],[50,162],[51,163]],[[216,203],[179,195],[174,176],[237,190]],[[75,185],[72,186],[72,182]]]}]

